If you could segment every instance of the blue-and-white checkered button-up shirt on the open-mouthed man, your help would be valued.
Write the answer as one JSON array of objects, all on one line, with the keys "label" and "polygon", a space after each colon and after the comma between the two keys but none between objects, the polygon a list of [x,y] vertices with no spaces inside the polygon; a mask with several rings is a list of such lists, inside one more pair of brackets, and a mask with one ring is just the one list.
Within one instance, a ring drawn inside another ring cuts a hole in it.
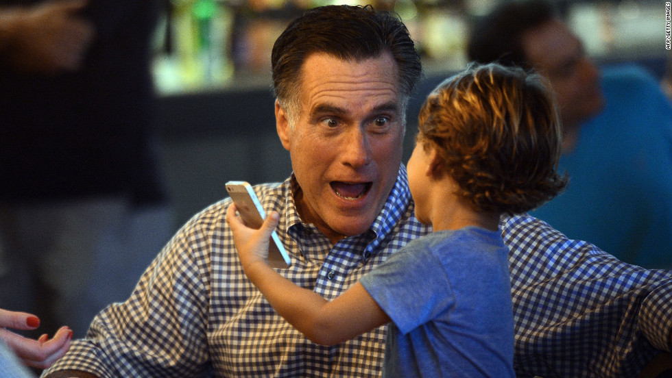
[{"label": "blue-and-white checkered button-up shirt on the open-mouthed man", "polygon": [[[278,236],[293,265],[280,274],[327,299],[341,294],[409,240],[427,233],[412,216],[402,166],[369,231],[335,246],[300,222],[284,184],[256,186],[280,212]],[[147,268],[128,301],[110,305],[85,340],[49,371],[100,377],[379,377],[385,329],[335,346],[304,338],[245,279],[224,220],[230,201],[197,214]],[[516,367],[521,376],[623,376],[670,350],[672,274],[627,266],[567,240],[529,216],[503,218],[510,255]],[[422,277],[418,277],[422,279]],[[667,316],[666,316],[667,314]],[[48,372],[47,372],[48,373]]]}]

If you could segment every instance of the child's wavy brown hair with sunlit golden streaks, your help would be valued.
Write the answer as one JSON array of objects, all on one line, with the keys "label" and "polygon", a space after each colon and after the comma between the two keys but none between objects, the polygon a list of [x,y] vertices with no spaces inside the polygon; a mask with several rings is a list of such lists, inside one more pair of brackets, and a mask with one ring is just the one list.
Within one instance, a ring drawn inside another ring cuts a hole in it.
[{"label": "child's wavy brown hair with sunlit golden streaks", "polygon": [[472,65],[433,90],[418,124],[418,144],[436,149],[477,212],[527,212],[566,186],[556,171],[560,118],[540,75]]}]

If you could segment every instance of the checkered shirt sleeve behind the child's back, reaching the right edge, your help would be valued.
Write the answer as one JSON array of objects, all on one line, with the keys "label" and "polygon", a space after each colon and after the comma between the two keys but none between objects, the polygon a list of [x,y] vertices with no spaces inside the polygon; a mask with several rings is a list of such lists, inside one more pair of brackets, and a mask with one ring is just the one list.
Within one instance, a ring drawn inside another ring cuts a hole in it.
[{"label": "checkered shirt sleeve behind the child's back, reaching the right edge", "polygon": [[671,272],[625,264],[531,216],[505,217],[500,227],[520,376],[636,377],[670,351]]}]

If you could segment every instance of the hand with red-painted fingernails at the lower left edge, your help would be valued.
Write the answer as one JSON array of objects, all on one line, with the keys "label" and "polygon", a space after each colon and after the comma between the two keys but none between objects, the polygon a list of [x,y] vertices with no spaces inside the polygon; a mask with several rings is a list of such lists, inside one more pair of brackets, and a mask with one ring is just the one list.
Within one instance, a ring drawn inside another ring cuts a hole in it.
[{"label": "hand with red-painted fingernails at the lower left edge", "polygon": [[51,340],[47,334],[33,340],[9,330],[36,329],[39,325],[40,319],[33,314],[0,309],[0,339],[10,346],[25,366],[45,369],[68,351],[72,331],[61,327]]}]

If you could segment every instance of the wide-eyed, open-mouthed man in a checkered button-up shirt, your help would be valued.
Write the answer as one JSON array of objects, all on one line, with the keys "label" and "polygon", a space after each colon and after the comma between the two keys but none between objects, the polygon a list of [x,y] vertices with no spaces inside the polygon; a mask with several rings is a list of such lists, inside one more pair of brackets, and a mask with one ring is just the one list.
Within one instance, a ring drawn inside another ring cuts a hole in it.
[{"label": "wide-eyed, open-mouthed man in a checkered button-up shirt", "polygon": [[[276,128],[293,174],[255,190],[265,210],[280,213],[293,264],[279,272],[333,299],[429,231],[413,216],[400,161],[420,59],[396,18],[339,5],[293,21],[272,66]],[[215,203],[178,231],[132,297],[101,312],[45,376],[378,377],[385,329],[336,346],[304,338],[245,279],[228,205]],[[656,348],[672,349],[672,273],[621,264],[531,217],[500,226],[511,249],[520,372],[560,363],[579,376],[615,359],[627,374]],[[574,285],[572,275],[586,270],[592,279]],[[575,353],[581,342],[590,353]],[[612,353],[616,344],[637,351]]]}]

